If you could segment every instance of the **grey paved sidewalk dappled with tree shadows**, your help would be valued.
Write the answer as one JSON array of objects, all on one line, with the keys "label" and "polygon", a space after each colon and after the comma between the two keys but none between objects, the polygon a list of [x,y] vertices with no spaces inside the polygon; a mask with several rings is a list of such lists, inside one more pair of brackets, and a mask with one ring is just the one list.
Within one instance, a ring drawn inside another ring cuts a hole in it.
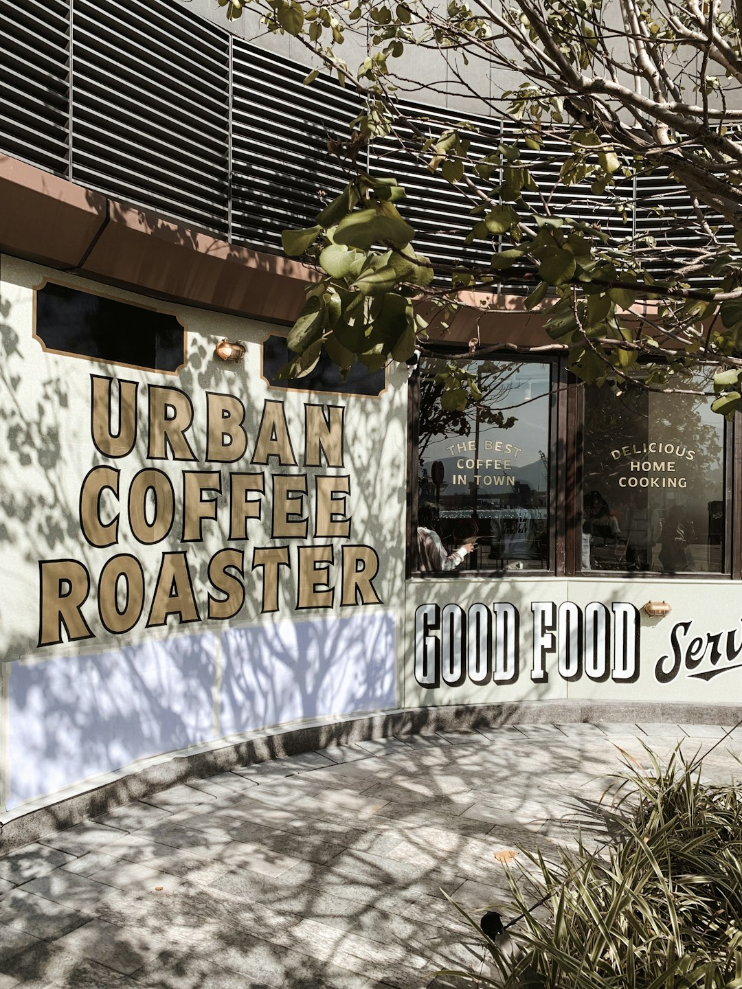
[{"label": "grey paved sidewalk dappled with tree shadows", "polygon": [[[538,725],[325,749],[171,787],[0,857],[0,989],[375,989],[471,960],[498,853],[606,837],[620,747],[715,726]],[[742,776],[737,730],[704,762]],[[501,855],[501,858],[508,858]],[[437,984],[443,984],[439,982]]]}]

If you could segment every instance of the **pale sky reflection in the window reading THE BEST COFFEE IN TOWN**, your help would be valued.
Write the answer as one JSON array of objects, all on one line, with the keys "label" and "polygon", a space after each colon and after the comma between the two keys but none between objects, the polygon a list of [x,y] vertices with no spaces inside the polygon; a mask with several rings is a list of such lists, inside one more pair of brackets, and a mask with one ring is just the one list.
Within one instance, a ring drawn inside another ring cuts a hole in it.
[{"label": "pale sky reflection in the window reading THE BEST COFFEE IN TOWN", "polygon": [[[438,367],[435,364],[430,367],[426,363],[423,369],[428,373],[435,374]],[[432,364],[432,362],[430,362]],[[446,436],[436,436],[426,444],[422,455],[422,468],[429,474],[430,465],[433,461],[439,460],[445,470],[445,481],[450,482],[454,474],[466,473],[473,475],[493,475],[502,474],[504,465],[496,466],[494,463],[487,464],[487,461],[510,460],[510,474],[517,481],[523,481],[534,490],[543,491],[546,484],[546,470],[541,461],[541,453],[548,460],[548,421],[549,421],[549,388],[550,366],[548,364],[536,363],[495,363],[493,361],[483,361],[472,363],[468,367],[469,371],[477,373],[479,371],[480,388],[487,396],[487,405],[493,409],[501,409],[506,418],[512,416],[514,422],[510,427],[503,428],[489,422],[482,422],[481,417],[477,423],[477,410],[470,409],[466,414],[466,419],[470,426],[467,436],[450,432]],[[525,403],[525,404],[523,404]],[[420,422],[420,433],[424,435],[425,424]],[[470,449],[469,443],[476,443],[478,437],[477,453]],[[503,449],[495,449],[496,444],[503,444]],[[460,444],[465,443],[466,451],[460,449]],[[507,445],[511,450],[508,451]],[[488,445],[492,449],[487,449]],[[453,451],[451,451],[453,446]],[[515,449],[519,452],[515,452]],[[485,463],[472,469],[466,470],[461,459],[480,459]],[[534,469],[534,465],[535,469]],[[482,494],[504,494],[502,488],[493,489],[488,487],[482,489]]]}]

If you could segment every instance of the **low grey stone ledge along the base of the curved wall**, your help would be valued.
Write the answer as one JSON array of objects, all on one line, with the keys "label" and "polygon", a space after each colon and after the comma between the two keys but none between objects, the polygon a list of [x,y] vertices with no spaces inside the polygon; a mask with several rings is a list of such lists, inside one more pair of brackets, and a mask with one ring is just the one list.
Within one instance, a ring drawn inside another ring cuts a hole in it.
[{"label": "low grey stone ledge along the base of the curved wall", "polygon": [[328,746],[349,745],[394,735],[505,728],[510,725],[682,722],[731,727],[740,720],[742,704],[565,700],[417,707],[352,715],[337,720],[293,722],[143,760],[5,812],[0,816],[0,849],[9,852],[28,845],[52,831],[69,828],[86,817],[96,817],[113,807],[141,800],[176,783]]}]

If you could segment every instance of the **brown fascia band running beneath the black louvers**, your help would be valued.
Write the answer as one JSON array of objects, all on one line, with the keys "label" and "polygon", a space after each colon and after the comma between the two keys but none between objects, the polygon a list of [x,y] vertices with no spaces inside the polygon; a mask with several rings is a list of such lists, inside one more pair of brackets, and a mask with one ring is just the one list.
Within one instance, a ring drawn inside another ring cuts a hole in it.
[{"label": "brown fascia band running beneath the black louvers", "polygon": [[[0,155],[0,251],[171,302],[292,323],[318,274],[298,261],[238,247],[156,213],[107,199]],[[462,294],[438,342],[559,349],[524,298]],[[548,308],[548,307],[546,307]]]}]

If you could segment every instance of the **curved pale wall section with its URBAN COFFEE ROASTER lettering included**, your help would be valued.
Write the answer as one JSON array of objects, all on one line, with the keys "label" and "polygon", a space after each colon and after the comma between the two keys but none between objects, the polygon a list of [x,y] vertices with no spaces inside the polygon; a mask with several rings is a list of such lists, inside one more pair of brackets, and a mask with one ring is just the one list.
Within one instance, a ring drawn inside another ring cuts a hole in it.
[{"label": "curved pale wall section with its URBAN COFFEE ROASTER lettering included", "polygon": [[[185,329],[174,374],[52,352],[34,335],[47,281],[131,304],[133,333],[152,307],[0,259],[5,807],[397,706],[405,374],[374,398],[271,388],[270,326],[170,303],[155,309]],[[224,337],[241,363],[215,358]]]}]

